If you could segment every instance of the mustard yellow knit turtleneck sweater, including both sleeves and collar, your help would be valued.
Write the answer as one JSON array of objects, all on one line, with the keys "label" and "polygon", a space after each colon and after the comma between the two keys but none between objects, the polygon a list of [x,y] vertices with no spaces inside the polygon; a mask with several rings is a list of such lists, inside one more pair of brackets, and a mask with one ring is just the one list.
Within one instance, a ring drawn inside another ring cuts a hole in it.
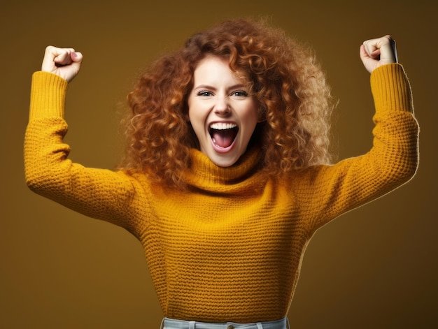
[{"label": "mustard yellow knit turtleneck sweater, including both sleeves and collar", "polygon": [[87,216],[126,228],[143,244],[164,316],[194,321],[283,318],[304,249],[340,214],[407,182],[417,167],[418,126],[409,82],[391,64],[371,76],[374,145],[363,156],[313,166],[281,182],[257,172],[259,151],[218,168],[193,149],[183,180],[164,191],[145,175],[84,168],[62,142],[66,81],[33,75],[25,138],[27,184]]}]

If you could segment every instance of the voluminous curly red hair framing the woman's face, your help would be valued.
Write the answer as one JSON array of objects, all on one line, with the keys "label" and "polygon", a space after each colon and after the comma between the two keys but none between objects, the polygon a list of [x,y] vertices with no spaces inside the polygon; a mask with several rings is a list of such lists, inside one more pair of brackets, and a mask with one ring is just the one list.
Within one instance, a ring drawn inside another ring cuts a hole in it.
[{"label": "voluminous curly red hair framing the woman's face", "polygon": [[263,149],[267,175],[330,162],[332,98],[312,50],[264,21],[229,20],[157,59],[136,83],[127,97],[124,170],[182,186],[189,150],[199,147],[188,122],[188,94],[207,54],[228,59],[232,71],[248,80],[263,119],[253,137]]}]

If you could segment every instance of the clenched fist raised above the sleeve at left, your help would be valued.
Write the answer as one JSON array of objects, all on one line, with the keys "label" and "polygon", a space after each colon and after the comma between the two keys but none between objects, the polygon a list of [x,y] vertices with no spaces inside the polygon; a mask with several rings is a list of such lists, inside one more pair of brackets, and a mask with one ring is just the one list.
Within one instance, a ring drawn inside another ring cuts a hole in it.
[{"label": "clenched fist raised above the sleeve at left", "polygon": [[41,71],[54,73],[70,82],[79,73],[83,56],[73,48],[58,48],[49,45],[45,48]]}]

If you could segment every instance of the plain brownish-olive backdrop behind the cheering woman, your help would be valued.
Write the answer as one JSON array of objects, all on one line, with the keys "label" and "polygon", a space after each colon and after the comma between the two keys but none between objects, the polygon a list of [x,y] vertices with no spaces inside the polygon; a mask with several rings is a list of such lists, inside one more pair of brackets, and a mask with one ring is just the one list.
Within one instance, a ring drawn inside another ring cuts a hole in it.
[{"label": "plain brownish-olive backdrop behind the cheering woman", "polygon": [[[113,168],[120,103],[136,75],[185,38],[231,17],[270,17],[309,42],[333,94],[339,158],[372,144],[367,38],[392,34],[421,124],[414,180],[316,233],[290,305],[291,328],[437,326],[437,15],[434,1],[2,1],[0,328],[159,328],[141,244],[127,231],[31,193],[22,141],[31,73],[46,45],[75,47],[71,159]],[[229,237],[232,239],[233,237]],[[269,237],[267,237],[269,238]],[[437,327],[438,328],[438,327]]]}]

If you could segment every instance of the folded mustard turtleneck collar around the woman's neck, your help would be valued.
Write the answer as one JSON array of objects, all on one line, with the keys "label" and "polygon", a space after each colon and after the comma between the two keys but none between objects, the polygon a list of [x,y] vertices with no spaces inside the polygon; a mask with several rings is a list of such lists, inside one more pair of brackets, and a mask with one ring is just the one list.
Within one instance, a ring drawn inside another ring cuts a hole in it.
[{"label": "folded mustard turtleneck collar around the woman's neck", "polygon": [[251,147],[230,167],[219,167],[198,149],[190,150],[192,165],[183,180],[192,188],[210,193],[242,193],[262,182],[260,147]]}]

